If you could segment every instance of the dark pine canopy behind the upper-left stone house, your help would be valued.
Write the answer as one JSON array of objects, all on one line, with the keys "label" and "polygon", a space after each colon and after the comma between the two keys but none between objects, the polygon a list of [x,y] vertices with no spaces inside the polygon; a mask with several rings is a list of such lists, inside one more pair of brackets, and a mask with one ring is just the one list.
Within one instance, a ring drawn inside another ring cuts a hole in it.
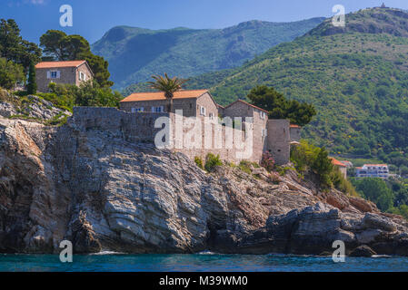
[{"label": "dark pine canopy behind the upper-left stone house", "polygon": [[67,35],[59,30],[48,30],[40,37],[47,60],[75,61],[85,60],[95,73],[95,81],[102,87],[110,87],[108,63],[103,57],[91,52],[91,46],[81,35]]}]

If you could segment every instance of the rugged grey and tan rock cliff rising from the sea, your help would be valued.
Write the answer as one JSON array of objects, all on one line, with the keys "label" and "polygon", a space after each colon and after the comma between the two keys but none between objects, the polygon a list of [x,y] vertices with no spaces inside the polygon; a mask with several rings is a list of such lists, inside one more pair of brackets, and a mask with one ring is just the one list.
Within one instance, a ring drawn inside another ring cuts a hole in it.
[{"label": "rugged grey and tan rock cliff rising from the sea", "polygon": [[[262,171],[262,170],[261,170]],[[0,252],[320,254],[340,239],[408,255],[408,225],[291,170],[198,169],[122,132],[0,117]]]}]

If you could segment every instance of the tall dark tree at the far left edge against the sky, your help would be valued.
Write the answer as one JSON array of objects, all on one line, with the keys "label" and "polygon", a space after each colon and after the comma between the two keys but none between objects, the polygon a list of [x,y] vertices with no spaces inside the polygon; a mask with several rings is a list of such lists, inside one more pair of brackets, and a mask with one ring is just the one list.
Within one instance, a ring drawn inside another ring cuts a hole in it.
[{"label": "tall dark tree at the far left edge against the sky", "polygon": [[0,19],[0,57],[21,64],[26,73],[30,63],[38,63],[41,55],[35,43],[23,39],[14,19]]}]

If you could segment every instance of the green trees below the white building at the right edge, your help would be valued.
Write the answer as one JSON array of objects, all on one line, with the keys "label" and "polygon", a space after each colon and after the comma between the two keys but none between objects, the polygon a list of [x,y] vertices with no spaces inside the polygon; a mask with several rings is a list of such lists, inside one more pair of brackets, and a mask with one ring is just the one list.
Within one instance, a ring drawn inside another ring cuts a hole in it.
[{"label": "green trees below the white building at the right edge", "polygon": [[408,218],[408,180],[351,179],[358,193],[383,211]]}]

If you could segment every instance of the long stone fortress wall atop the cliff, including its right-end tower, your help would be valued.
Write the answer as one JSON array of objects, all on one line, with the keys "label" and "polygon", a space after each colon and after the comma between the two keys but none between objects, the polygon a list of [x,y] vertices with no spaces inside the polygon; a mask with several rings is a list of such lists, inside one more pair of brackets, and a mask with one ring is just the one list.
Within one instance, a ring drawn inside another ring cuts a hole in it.
[{"label": "long stone fortress wall atop the cliff, including its right-end tower", "polygon": [[[165,126],[163,124],[161,128],[154,128],[154,123],[160,117],[168,117],[173,125],[173,146],[171,149],[184,152],[192,159],[195,156],[204,159],[211,152],[215,155],[219,154],[222,160],[259,162],[264,150],[271,150],[278,164],[285,164],[289,161],[290,135],[289,121],[287,120],[267,121],[267,136],[262,140],[259,140],[259,136],[255,135],[255,128],[252,150],[248,150],[251,145],[249,133],[223,126],[216,119],[212,123],[206,123],[203,118],[197,118],[197,124],[201,125],[201,131],[196,129],[198,127],[194,128],[193,123],[190,123],[183,127],[183,136],[181,136],[180,131],[175,131],[176,126],[174,125],[180,124],[180,121],[185,124],[191,119],[168,112],[131,113],[115,108],[75,107],[72,120],[75,126],[82,131],[107,131],[130,142],[154,143],[157,134],[163,132],[162,128]],[[204,138],[205,126],[211,128],[208,130],[211,132],[211,136],[207,140]],[[245,126],[243,126],[244,128]]]}]

